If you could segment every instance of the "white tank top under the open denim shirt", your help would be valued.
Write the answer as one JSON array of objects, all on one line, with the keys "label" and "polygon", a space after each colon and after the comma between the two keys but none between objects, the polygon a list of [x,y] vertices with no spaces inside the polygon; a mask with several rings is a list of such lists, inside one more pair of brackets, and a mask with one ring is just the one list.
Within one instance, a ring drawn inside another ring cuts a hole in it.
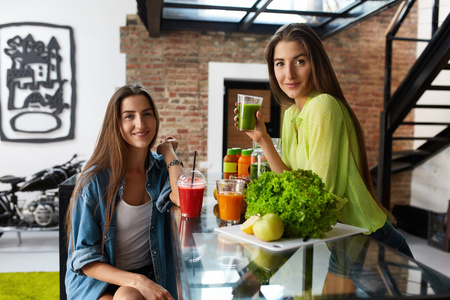
[{"label": "white tank top under the open denim shirt", "polygon": [[116,267],[129,271],[148,265],[152,201],[133,206],[121,199],[116,209]]}]

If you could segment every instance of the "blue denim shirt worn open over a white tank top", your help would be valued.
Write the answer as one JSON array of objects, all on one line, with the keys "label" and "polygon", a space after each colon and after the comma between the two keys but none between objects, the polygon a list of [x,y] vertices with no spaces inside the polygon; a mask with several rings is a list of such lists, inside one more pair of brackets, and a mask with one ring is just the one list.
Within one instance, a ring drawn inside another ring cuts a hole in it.
[{"label": "blue denim shirt worn open over a white tank top", "polygon": [[[98,299],[109,285],[83,274],[82,267],[91,262],[115,265],[116,213],[106,233],[105,249],[101,241],[106,219],[106,202],[100,201],[108,188],[109,171],[97,174],[83,187],[72,212],[72,234],[68,248],[67,272],[65,277],[67,299]],[[116,205],[122,197],[125,181],[122,182],[116,198]],[[167,215],[172,202],[169,172],[163,157],[149,151],[149,168],[145,188],[153,202],[149,228],[150,255],[156,283],[176,297],[173,262],[166,259],[170,253],[170,223]],[[74,251],[71,253],[73,242]]]}]

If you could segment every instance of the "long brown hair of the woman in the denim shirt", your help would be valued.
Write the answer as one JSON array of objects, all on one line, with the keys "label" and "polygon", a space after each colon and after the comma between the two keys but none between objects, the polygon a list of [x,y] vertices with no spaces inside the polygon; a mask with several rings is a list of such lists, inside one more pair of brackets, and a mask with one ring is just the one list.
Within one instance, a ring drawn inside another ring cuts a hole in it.
[{"label": "long brown hair of the woman in the denim shirt", "polygon": [[[112,215],[114,214],[117,192],[125,177],[127,161],[125,160],[127,144],[120,132],[120,104],[122,100],[136,95],[143,95],[150,103],[156,118],[155,136],[149,145],[149,151],[156,142],[159,131],[159,114],[155,102],[145,88],[136,83],[127,84],[119,88],[109,100],[105,117],[94,152],[87,161],[74,189],[69,210],[66,214],[66,235],[67,241],[72,234],[72,210],[82,188],[99,172],[109,170],[109,185],[105,195],[101,195],[101,201],[106,201],[105,229],[102,234],[102,249],[105,245],[105,233],[109,229]],[[72,244],[73,251],[73,244]]]}]

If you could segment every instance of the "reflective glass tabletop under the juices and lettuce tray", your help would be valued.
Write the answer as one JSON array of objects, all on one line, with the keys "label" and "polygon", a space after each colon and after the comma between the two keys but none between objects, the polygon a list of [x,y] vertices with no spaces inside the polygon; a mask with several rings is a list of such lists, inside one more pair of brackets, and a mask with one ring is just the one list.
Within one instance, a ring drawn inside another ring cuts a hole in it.
[{"label": "reflective glass tabletop under the juices and lettuce tray", "polygon": [[180,298],[450,297],[450,278],[363,234],[269,252],[217,233],[216,205],[204,197],[198,218],[171,209]]}]

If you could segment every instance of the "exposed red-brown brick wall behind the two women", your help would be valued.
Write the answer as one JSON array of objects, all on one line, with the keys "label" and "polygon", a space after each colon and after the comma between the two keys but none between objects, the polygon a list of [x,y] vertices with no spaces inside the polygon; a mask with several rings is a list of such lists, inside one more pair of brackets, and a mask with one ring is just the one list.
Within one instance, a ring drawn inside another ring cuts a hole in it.
[{"label": "exposed red-brown brick wall behind the two women", "polygon": [[[385,31],[395,11],[389,9],[324,41],[344,94],[364,128],[370,166],[378,160]],[[417,22],[412,15],[400,34],[416,32]],[[150,38],[137,15],[127,16],[127,25],[120,34],[121,52],[126,53],[127,82],[141,82],[154,97],[161,117],[160,137],[171,135],[178,139],[177,152],[188,166],[192,166],[194,150],[199,160],[206,160],[208,63],[265,63],[264,47],[270,36],[167,31],[161,37]],[[414,43],[395,49],[393,91],[414,62],[413,54]],[[406,128],[406,132],[411,133],[412,128]],[[396,147],[409,149],[412,144]],[[406,178],[401,186],[398,182],[393,185],[393,193],[396,189],[402,191],[395,194],[393,202],[409,202],[410,176]]]}]

